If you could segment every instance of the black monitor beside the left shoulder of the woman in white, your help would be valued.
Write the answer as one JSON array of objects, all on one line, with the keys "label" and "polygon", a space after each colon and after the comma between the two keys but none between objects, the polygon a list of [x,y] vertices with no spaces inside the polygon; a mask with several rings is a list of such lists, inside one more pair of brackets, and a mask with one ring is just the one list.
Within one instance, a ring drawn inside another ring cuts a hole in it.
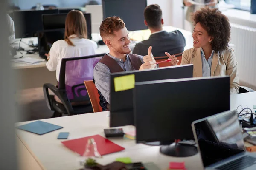
[{"label": "black monitor beside the left shoulder of the woman in white", "polygon": [[39,54],[45,54],[50,51],[52,44],[58,40],[64,40],[65,29],[54,29],[38,31]]}]

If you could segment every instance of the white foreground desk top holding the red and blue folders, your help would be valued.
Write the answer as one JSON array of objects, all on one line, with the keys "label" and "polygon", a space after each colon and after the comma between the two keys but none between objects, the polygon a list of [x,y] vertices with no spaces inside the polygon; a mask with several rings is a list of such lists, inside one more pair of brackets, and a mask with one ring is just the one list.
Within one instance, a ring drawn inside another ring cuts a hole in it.
[{"label": "white foreground desk top holding the red and blue folders", "polygon": [[[253,105],[256,105],[256,92],[230,95],[230,109],[234,110],[239,105],[247,105],[253,110]],[[109,112],[106,111],[44,119],[44,122],[60,125],[64,128],[41,136],[23,130],[17,130],[17,136],[38,162],[40,167],[44,167],[42,169],[76,170],[81,168],[78,162],[79,156],[61,144],[62,140],[57,139],[58,133],[70,132],[69,139],[76,139],[96,134],[104,136],[103,129],[109,127],[109,117],[107,117],[108,113]],[[24,125],[29,122],[20,122],[17,123],[16,126]],[[133,126],[124,126],[123,128],[125,132],[134,129]],[[134,140],[126,140],[122,138],[113,138],[110,140],[122,147],[125,147],[125,150],[96,159],[100,164],[111,163],[112,161],[115,161],[117,157],[130,157],[133,162],[154,162],[161,170],[166,170],[170,161],[185,161],[186,168],[188,170],[202,169],[199,154],[186,158],[176,158],[161,154],[159,152],[159,146],[136,144]]]}]

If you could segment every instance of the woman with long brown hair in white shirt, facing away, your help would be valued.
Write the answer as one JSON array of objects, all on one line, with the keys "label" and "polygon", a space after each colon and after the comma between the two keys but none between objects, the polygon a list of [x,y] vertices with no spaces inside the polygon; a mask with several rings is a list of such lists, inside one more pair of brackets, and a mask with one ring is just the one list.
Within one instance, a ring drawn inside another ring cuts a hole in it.
[{"label": "woman with long brown hair in white shirt, facing away", "polygon": [[58,81],[62,58],[93,55],[96,48],[96,42],[87,39],[87,25],[84,14],[81,11],[72,10],[66,17],[64,40],[54,42],[49,54],[45,54],[48,59],[46,67],[49,71],[56,70]]}]

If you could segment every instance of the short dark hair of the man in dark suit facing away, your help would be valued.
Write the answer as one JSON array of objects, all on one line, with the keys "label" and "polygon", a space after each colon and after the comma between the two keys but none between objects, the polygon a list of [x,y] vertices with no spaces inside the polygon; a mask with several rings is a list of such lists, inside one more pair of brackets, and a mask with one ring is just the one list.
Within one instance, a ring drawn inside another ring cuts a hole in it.
[{"label": "short dark hair of the man in dark suit facing away", "polygon": [[159,28],[161,26],[162,10],[157,4],[152,4],[144,9],[144,17],[148,27]]}]

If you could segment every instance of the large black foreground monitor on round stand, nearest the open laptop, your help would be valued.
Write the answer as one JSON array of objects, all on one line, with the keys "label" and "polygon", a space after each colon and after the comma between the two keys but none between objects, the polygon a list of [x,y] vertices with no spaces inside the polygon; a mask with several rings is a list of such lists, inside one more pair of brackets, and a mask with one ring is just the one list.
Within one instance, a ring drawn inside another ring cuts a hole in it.
[{"label": "large black foreground monitor on round stand, nearest the open laptop", "polygon": [[[193,139],[193,121],[230,109],[230,78],[136,82],[133,101],[137,143]],[[192,156],[197,150],[171,144],[162,146],[160,152]]]}]

